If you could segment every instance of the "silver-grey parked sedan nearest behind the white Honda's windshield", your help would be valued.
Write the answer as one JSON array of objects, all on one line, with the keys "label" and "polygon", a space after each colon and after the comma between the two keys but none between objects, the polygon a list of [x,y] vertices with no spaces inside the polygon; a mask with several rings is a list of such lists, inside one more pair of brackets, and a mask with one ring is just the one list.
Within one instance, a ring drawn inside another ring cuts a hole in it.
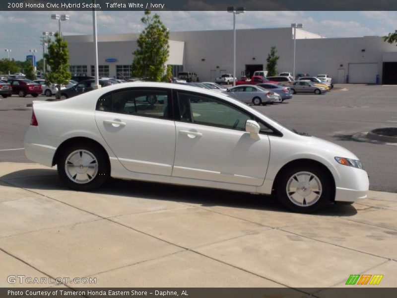
[{"label": "silver-grey parked sedan nearest behind the white Honda's windshield", "polygon": [[227,89],[227,94],[245,102],[254,105],[266,105],[274,102],[274,93],[260,86],[240,85]]}]

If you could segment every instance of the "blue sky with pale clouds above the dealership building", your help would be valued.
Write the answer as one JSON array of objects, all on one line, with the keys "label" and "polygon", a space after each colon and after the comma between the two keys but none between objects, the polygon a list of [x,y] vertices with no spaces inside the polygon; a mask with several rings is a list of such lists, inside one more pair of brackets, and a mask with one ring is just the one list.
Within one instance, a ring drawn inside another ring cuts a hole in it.
[{"label": "blue sky with pale clouds above the dealership building", "polygon": [[[58,31],[52,13],[62,11],[0,11],[0,58],[25,60],[29,49],[42,58],[40,37],[43,31]],[[92,34],[92,12],[68,11],[63,21],[64,34]],[[232,29],[233,17],[226,11],[160,11],[170,31]],[[98,34],[139,33],[142,11],[98,11]],[[303,29],[332,37],[384,36],[397,29],[396,11],[247,11],[236,16],[237,29],[289,27],[302,23]],[[238,41],[237,41],[238,42]]]}]

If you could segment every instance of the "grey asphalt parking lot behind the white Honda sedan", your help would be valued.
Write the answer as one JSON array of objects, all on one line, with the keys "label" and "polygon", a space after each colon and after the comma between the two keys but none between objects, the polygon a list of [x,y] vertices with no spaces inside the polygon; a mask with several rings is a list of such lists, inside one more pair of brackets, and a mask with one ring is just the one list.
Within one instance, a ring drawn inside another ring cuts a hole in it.
[{"label": "grey asphalt parking lot behind the white Honda sedan", "polygon": [[[257,108],[288,128],[351,150],[368,172],[371,190],[396,193],[397,146],[351,139],[355,133],[397,127],[396,92],[397,86],[336,84],[334,90],[324,95],[296,94],[284,103]],[[32,100],[31,96],[15,95],[0,100],[0,162],[30,162],[21,149],[32,110],[26,104]]]}]

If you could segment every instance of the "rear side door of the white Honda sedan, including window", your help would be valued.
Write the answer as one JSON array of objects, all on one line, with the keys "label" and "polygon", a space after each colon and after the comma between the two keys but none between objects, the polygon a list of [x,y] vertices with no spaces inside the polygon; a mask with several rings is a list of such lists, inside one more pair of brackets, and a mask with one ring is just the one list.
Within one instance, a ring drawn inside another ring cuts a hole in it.
[{"label": "rear side door of the white Honda sedan, including window", "polygon": [[126,88],[107,93],[98,100],[95,121],[126,169],[171,176],[176,137],[169,89]]}]

